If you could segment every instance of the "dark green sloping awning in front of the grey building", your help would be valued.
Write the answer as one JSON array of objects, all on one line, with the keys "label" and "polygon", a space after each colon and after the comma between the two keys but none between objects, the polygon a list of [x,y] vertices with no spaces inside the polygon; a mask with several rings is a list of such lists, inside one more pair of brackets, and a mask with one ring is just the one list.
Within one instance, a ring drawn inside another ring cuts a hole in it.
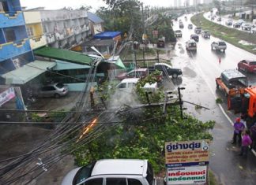
[{"label": "dark green sloping awning in front of the grey building", "polygon": [[90,65],[93,61],[93,59],[88,57],[86,54],[53,47],[42,47],[38,50],[34,50],[34,54],[41,57],[49,57],[61,61],[70,61],[80,65]]}]

